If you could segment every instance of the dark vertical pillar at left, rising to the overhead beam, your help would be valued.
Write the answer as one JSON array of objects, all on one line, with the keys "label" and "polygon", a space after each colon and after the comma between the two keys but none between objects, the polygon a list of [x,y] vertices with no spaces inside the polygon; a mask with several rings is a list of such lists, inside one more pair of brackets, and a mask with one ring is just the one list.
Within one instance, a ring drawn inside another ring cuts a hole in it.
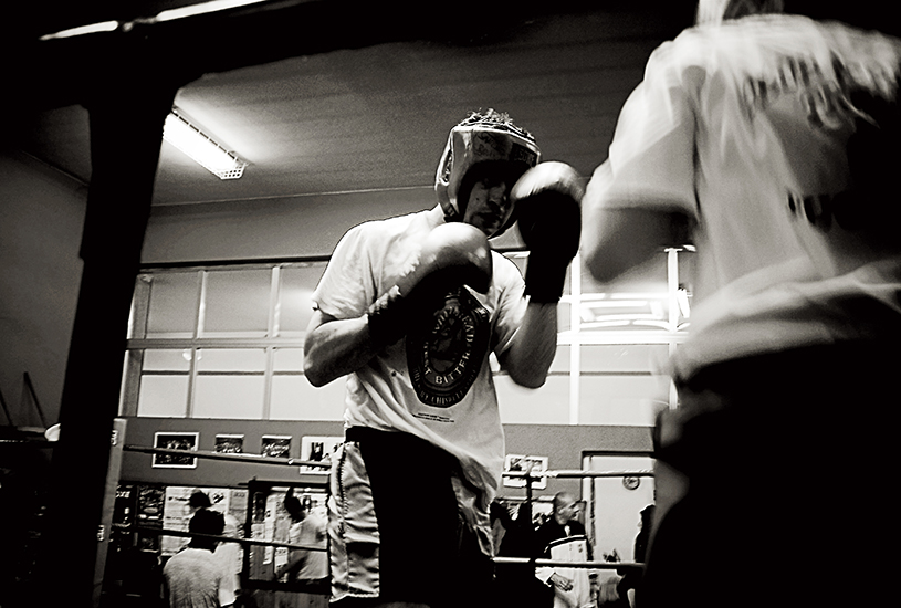
[{"label": "dark vertical pillar at left, rising to the overhead beam", "polygon": [[[109,49],[115,54],[115,49]],[[117,416],[126,325],[150,211],[163,125],[176,86],[118,57],[87,107],[92,177],[81,291],[60,409],[35,606],[94,606],[97,532]]]}]

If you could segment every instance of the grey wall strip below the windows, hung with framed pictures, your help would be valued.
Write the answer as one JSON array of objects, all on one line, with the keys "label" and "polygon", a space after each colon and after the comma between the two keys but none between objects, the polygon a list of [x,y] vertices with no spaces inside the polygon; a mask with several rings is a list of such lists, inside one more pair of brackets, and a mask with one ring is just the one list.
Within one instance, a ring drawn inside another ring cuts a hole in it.
[{"label": "grey wall strip below the windows, hung with framed pictures", "polygon": [[[153,447],[157,431],[190,431],[200,433],[198,449],[213,451],[217,434],[243,434],[244,453],[260,453],[263,434],[292,437],[290,458],[301,458],[301,438],[305,436],[337,437],[343,434],[342,422],[213,420],[171,418],[128,418],[126,420],[126,445]],[[577,427],[506,424],[506,452],[512,454],[548,458],[552,470],[579,470],[583,457],[598,451],[649,451],[650,429],[643,427]],[[298,470],[284,465],[243,463],[198,459],[196,469],[155,469],[150,454],[126,450],[123,455],[121,479],[143,483],[167,485],[237,486],[251,479],[261,481],[300,481]],[[548,480],[547,489],[537,495],[551,496],[567,490],[580,495],[578,480]],[[525,490],[502,488],[506,497],[524,497]]]}]

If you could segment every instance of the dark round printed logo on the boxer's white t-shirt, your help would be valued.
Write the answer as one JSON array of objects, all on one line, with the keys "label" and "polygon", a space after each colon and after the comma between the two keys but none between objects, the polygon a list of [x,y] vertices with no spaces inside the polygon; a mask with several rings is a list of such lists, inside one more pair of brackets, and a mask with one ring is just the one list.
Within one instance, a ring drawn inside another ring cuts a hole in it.
[{"label": "dark round printed logo on the boxer's white t-shirt", "polygon": [[488,310],[460,286],[407,335],[407,367],[420,401],[447,408],[463,399],[482,368],[489,329]]}]

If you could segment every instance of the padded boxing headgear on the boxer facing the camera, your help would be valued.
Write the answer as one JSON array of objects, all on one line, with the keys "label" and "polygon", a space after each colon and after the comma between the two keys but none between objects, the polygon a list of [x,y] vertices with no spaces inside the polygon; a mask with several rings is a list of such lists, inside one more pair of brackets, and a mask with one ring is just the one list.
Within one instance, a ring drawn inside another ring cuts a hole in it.
[{"label": "padded boxing headgear on the boxer facing the camera", "polygon": [[[500,161],[510,171],[506,178],[512,187],[520,176],[538,164],[541,154],[535,138],[514,125],[506,114],[489,109],[485,114],[470,115],[448,135],[448,144],[434,177],[434,191],[444,210],[444,219],[462,220],[472,184],[465,186],[465,192],[461,191],[461,187],[464,187],[464,178],[473,166]],[[507,226],[511,223],[513,218]]]}]

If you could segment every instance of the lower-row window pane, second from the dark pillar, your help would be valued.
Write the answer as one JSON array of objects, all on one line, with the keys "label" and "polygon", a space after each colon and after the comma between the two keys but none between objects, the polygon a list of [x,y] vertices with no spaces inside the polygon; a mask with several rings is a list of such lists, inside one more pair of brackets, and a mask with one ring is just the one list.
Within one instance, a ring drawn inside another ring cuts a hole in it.
[{"label": "lower-row window pane, second from the dark pillar", "polygon": [[264,385],[265,350],[199,350],[192,417],[259,420]]}]

